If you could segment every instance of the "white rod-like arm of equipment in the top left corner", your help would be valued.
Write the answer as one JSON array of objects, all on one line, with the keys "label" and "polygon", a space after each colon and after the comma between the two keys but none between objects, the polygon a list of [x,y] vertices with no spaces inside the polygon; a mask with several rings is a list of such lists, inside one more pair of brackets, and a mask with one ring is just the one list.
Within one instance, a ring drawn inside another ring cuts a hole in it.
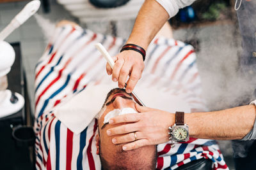
[{"label": "white rod-like arm of equipment in the top left corner", "polygon": [[0,32],[0,41],[8,37],[15,29],[22,25],[28,18],[38,11],[40,8],[40,1],[34,0],[26,4],[26,6],[13,18],[9,25],[7,25],[2,32]]}]

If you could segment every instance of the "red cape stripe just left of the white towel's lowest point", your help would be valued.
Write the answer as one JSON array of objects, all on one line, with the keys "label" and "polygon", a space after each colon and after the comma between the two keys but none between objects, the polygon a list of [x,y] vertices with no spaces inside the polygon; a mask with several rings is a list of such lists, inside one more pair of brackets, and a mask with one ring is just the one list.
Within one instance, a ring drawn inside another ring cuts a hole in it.
[{"label": "red cape stripe just left of the white towel's lowest point", "polygon": [[73,132],[67,129],[67,160],[66,169],[71,170],[71,160],[72,160],[72,148],[73,148]]}]

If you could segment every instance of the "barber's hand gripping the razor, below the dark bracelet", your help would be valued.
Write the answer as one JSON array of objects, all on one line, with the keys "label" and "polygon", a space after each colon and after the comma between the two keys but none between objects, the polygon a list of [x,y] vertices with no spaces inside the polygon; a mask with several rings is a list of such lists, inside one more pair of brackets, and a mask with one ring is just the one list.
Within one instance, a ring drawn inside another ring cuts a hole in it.
[{"label": "barber's hand gripping the razor, below the dark bracelet", "polygon": [[113,71],[109,64],[107,64],[107,73],[112,74],[112,80],[118,81],[118,86],[124,88],[125,81],[128,75],[126,92],[131,93],[136,83],[141,78],[142,71],[144,69],[143,57],[140,53],[133,50],[125,50],[115,57],[113,57],[115,65]]}]

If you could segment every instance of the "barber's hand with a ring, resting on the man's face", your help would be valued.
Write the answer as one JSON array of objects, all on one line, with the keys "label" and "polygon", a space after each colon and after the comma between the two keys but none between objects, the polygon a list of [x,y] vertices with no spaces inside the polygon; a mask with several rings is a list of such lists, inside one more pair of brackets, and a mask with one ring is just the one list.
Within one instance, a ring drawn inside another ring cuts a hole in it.
[{"label": "barber's hand with a ring, resting on the man's face", "polygon": [[141,113],[120,115],[109,120],[111,125],[126,123],[108,129],[109,136],[122,134],[112,139],[114,144],[127,143],[123,146],[123,150],[134,150],[142,146],[169,141],[168,127],[175,123],[175,114],[143,107],[139,104],[136,104],[136,109]]}]

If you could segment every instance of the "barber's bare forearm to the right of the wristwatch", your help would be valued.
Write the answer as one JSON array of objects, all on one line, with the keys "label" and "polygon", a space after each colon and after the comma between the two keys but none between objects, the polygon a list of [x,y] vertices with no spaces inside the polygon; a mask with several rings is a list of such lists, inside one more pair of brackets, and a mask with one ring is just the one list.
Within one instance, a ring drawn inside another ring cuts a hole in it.
[{"label": "barber's bare forearm to the right of the wristwatch", "polygon": [[242,139],[253,128],[255,106],[206,113],[186,113],[189,135],[203,139]]}]

